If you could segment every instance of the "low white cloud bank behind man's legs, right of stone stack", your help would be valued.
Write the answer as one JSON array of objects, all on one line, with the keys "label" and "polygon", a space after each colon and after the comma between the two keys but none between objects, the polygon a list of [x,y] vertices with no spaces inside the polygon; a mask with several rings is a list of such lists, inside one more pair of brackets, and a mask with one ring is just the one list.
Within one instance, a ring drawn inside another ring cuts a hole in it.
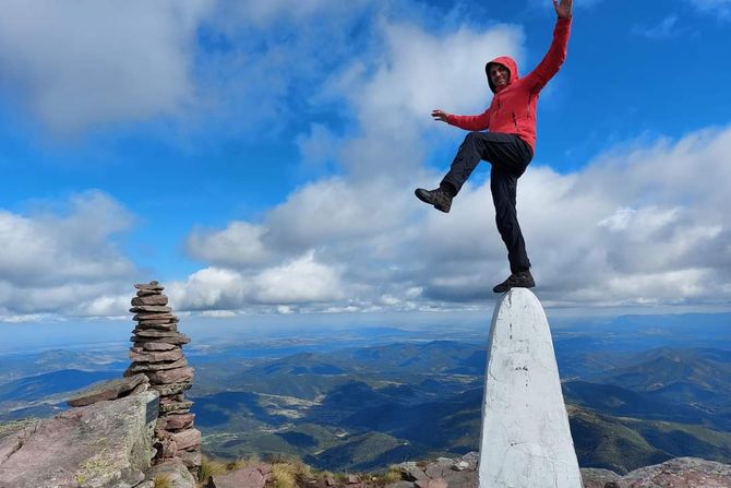
[{"label": "low white cloud bank behind man's legs, right of stone stack", "polygon": [[[520,179],[518,209],[541,299],[562,306],[726,300],[729,151],[731,128],[618,148],[573,174],[529,168]],[[352,197],[376,193],[390,195],[387,202]],[[493,218],[489,183],[468,185],[444,215],[394,181],[319,181],[260,224],[256,246],[276,260],[230,270],[241,282],[238,298],[206,303],[295,303],[320,311],[486,303],[508,272]],[[218,242],[228,229],[196,238]],[[236,246],[229,252],[236,254]],[[192,302],[182,291],[181,298]]]}]

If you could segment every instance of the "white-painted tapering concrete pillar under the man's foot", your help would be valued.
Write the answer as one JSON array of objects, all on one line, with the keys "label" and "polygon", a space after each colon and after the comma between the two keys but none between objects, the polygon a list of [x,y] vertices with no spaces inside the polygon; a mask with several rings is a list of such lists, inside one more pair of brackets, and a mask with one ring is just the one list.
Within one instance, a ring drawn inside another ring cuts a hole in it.
[{"label": "white-painted tapering concrete pillar under the man's foot", "polygon": [[551,332],[538,298],[514,288],[492,317],[480,488],[582,488]]}]

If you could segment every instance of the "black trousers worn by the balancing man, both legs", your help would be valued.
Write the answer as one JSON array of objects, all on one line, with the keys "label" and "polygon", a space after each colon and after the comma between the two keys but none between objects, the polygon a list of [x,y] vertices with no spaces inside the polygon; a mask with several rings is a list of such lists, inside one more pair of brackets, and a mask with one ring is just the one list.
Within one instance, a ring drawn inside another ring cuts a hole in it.
[{"label": "black trousers worn by the balancing man, both legs", "polygon": [[[481,159],[492,165],[490,190],[495,205],[498,231],[507,247],[511,272],[530,269],[518,214],[515,207],[518,178],[534,158],[530,146],[517,135],[493,132],[470,132],[452,162],[441,186],[457,194]],[[452,187],[452,188],[450,188]]]}]

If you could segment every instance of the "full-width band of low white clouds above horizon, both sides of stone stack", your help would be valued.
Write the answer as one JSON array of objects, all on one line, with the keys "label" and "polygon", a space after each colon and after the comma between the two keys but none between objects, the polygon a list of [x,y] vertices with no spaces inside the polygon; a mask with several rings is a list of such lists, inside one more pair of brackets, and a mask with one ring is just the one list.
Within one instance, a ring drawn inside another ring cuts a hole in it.
[{"label": "full-width band of low white clouds above horizon, both sides of stone stack", "polygon": [[[530,167],[518,209],[544,305],[728,302],[729,151],[731,128],[618,148],[568,175]],[[124,313],[136,271],[113,236],[130,225],[100,193],[0,213],[2,320]],[[490,303],[507,273],[487,182],[445,215],[396,180],[315,181],[257,224],[196,229],[189,250],[211,265],[166,284],[179,311],[464,309]]]}]

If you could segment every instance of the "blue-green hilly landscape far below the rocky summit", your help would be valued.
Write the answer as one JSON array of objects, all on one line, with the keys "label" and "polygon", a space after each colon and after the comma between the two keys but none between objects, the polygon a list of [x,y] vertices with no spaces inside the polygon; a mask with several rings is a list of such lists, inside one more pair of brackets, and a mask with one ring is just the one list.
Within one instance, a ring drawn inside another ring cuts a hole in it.
[{"label": "blue-green hilly landscape far below the rocky summit", "polygon": [[[731,353],[639,350],[631,328],[620,329],[631,347],[612,343],[616,335],[556,334],[579,463],[623,473],[674,456],[731,461]],[[274,358],[257,347],[255,357],[189,358],[195,422],[216,457],[285,453],[319,468],[378,469],[477,449],[486,344],[399,342]],[[84,367],[58,367],[64,362]],[[51,415],[71,391],[121,374],[120,362],[88,353],[5,365],[14,369],[0,381],[0,419]]]}]

